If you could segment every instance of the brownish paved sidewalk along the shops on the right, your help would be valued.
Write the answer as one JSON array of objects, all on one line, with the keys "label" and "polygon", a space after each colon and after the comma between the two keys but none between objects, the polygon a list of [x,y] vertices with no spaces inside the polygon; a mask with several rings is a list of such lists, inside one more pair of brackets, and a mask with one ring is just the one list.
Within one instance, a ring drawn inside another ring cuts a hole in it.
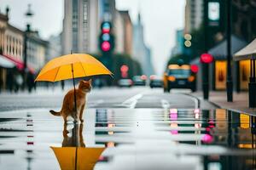
[{"label": "brownish paved sidewalk along the shops on the right", "polygon": [[[192,95],[198,97],[203,100],[202,92],[195,92]],[[252,109],[248,107],[248,92],[241,92],[237,94],[234,92],[233,94],[233,102],[227,102],[226,91],[221,92],[210,92],[209,101],[214,105],[218,105],[220,108],[228,109],[230,111],[238,111],[247,113],[249,115],[256,115],[256,108]]]}]

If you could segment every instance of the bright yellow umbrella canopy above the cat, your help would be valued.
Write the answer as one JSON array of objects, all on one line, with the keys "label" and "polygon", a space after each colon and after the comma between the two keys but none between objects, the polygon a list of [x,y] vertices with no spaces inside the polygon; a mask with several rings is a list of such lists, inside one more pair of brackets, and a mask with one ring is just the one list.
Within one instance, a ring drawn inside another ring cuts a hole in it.
[{"label": "bright yellow umbrella canopy above the cat", "polygon": [[89,54],[67,54],[51,59],[44,65],[35,81],[57,82],[71,78],[112,74]]}]

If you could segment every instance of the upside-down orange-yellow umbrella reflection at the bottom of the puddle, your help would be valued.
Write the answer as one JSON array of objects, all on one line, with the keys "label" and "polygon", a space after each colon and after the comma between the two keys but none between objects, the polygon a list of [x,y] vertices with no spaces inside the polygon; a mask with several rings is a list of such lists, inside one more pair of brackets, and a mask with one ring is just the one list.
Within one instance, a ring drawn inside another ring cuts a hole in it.
[{"label": "upside-down orange-yellow umbrella reflection at the bottom of the puddle", "polygon": [[[93,169],[105,148],[51,147],[61,169]],[[75,167],[77,166],[77,167]]]}]

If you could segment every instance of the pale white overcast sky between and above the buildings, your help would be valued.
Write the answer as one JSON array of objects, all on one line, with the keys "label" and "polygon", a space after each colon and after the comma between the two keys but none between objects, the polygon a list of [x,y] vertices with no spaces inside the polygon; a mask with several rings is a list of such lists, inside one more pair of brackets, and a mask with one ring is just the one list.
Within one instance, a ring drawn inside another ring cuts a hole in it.
[{"label": "pale white overcast sky between and above the buildings", "polygon": [[[62,30],[64,0],[1,0],[1,13],[10,8],[10,23],[20,29],[26,26],[27,4],[32,4],[34,16],[32,29],[47,39]],[[171,49],[175,45],[175,31],[184,26],[185,0],[116,0],[116,7],[129,10],[131,20],[137,22],[140,11],[144,25],[145,42],[152,52],[152,63],[158,75],[162,75]]]}]

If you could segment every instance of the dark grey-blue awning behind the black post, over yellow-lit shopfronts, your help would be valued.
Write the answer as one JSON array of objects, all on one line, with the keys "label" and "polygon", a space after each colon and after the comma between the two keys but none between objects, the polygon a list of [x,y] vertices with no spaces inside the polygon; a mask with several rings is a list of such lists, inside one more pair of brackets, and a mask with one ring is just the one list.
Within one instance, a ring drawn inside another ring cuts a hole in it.
[{"label": "dark grey-blue awning behind the black post, over yellow-lit shopfronts", "polygon": [[[239,37],[234,35],[231,36],[231,54],[235,54],[241,48],[244,48],[247,45],[247,42],[241,40]],[[214,59],[226,59],[227,58],[227,40],[218,43],[217,46],[211,48],[208,51],[209,54],[212,54]]]}]

